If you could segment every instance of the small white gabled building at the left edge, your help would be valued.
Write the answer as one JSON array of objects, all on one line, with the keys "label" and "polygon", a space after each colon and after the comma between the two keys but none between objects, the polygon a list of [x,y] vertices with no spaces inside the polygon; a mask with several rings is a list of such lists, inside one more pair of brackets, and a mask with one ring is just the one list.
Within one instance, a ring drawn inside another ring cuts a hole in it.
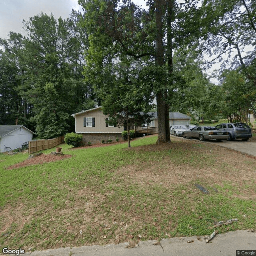
[{"label": "small white gabled building at the left edge", "polygon": [[24,142],[32,140],[34,132],[23,125],[0,125],[0,152],[5,152],[5,147],[12,150],[21,148]]}]

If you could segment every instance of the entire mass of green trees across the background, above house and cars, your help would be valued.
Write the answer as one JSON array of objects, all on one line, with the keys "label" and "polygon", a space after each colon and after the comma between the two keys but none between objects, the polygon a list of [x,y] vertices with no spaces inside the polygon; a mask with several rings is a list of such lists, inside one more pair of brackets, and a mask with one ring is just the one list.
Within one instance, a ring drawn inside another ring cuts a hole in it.
[{"label": "entire mass of green trees across the background, above house and cars", "polygon": [[[0,39],[1,125],[54,138],[74,131],[70,114],[97,105],[116,125],[127,126],[127,117],[139,124],[156,98],[158,140],[168,141],[169,110],[202,120],[256,116],[254,1],[150,0],[146,10],[132,1],[79,2],[83,13],[41,13],[23,20],[24,36]],[[215,86],[204,72],[223,58]]]}]

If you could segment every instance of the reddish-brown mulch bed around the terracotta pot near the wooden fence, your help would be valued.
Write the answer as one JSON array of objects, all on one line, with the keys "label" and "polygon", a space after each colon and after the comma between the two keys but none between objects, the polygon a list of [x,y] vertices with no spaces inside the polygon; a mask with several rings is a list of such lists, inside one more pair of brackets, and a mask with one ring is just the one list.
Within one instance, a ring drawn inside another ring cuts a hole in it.
[{"label": "reddish-brown mulch bed around the terracotta pot near the wooden fence", "polygon": [[55,161],[58,161],[58,160],[70,158],[71,156],[72,155],[54,156],[54,155],[51,155],[51,154],[42,154],[41,156],[26,159],[23,162],[11,165],[7,169],[12,170],[13,168],[20,168],[20,167],[34,165],[34,164],[45,164],[45,163],[49,163],[49,162],[55,162]]}]

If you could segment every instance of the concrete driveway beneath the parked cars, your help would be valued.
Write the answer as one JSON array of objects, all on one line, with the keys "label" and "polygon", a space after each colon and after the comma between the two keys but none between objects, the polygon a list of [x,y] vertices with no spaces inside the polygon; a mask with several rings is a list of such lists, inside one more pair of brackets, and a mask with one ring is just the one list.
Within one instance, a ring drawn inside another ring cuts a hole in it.
[{"label": "concrete driveway beneath the parked cars", "polygon": [[[179,136],[178,138],[182,138],[182,137]],[[184,139],[184,140],[190,140],[190,138]],[[231,149],[237,150],[237,151],[245,153],[245,154],[256,156],[256,142],[250,142],[250,140],[242,141],[242,140],[237,139],[237,140],[232,140],[232,141],[222,140],[220,142],[217,142],[216,140],[200,141],[199,139],[195,139],[195,138],[193,138],[192,140],[196,140],[196,141],[199,141],[202,143],[210,143],[210,144],[222,146],[225,148],[231,148]]]}]

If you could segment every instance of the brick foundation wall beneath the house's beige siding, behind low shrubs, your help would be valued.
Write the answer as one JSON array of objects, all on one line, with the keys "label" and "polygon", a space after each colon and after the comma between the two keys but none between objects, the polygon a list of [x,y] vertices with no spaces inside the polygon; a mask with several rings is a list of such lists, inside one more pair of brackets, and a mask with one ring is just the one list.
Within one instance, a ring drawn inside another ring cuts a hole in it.
[{"label": "brick foundation wall beneath the house's beige siding, behind low shrubs", "polygon": [[92,142],[92,144],[101,143],[102,140],[112,140],[116,142],[116,138],[123,140],[121,133],[78,133],[82,134],[83,140],[82,142],[86,145],[88,141]]}]

